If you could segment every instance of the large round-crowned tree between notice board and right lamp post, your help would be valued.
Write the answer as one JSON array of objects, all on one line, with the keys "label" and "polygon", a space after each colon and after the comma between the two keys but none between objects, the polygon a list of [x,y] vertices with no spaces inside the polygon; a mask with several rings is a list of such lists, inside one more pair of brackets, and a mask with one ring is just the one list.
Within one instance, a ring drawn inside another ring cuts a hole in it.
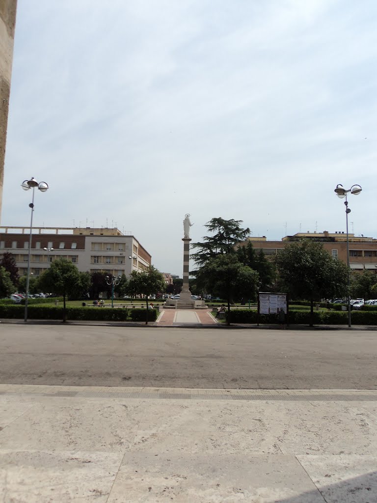
[{"label": "large round-crowned tree between notice board and right lamp post", "polygon": [[347,265],[331,257],[319,242],[289,244],[276,256],[275,263],[280,284],[291,299],[310,300],[310,326],[315,300],[343,296],[347,291]]}]

